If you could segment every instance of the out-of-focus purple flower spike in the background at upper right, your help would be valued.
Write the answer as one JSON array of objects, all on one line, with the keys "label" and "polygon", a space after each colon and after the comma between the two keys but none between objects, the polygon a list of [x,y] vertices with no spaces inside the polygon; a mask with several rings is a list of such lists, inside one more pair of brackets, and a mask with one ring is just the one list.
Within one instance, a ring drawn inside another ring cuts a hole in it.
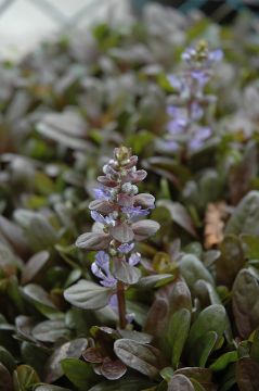
[{"label": "out-of-focus purple flower spike in the background at upper right", "polygon": [[211,127],[204,125],[204,116],[205,108],[215,102],[216,97],[206,94],[205,87],[212,76],[212,65],[222,55],[220,49],[209,51],[206,42],[200,41],[196,49],[189,48],[183,52],[184,72],[168,76],[177,92],[168,105],[167,149],[170,151],[179,151],[183,144],[187,151],[199,150],[212,136]]}]

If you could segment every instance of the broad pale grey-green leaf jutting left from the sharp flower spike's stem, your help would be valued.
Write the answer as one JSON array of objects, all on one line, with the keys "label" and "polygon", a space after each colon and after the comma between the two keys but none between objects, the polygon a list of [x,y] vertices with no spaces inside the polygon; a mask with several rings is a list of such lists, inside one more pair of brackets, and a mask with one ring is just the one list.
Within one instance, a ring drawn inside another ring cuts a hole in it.
[{"label": "broad pale grey-green leaf jutting left from the sharp flower spike's stem", "polygon": [[64,291],[64,298],[82,310],[99,310],[108,304],[113,289],[92,281],[80,280]]}]

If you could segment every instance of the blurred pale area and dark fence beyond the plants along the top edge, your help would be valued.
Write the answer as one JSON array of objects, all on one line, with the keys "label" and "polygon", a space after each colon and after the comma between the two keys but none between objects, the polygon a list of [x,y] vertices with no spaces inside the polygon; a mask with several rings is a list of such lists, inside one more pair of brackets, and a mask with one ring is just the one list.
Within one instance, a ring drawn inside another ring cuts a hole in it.
[{"label": "blurred pale area and dark fence beyond the plants along the top edge", "polygon": [[44,38],[101,20],[141,17],[151,2],[183,13],[200,10],[218,23],[231,23],[239,11],[259,14],[259,0],[0,0],[0,55],[20,58]]}]

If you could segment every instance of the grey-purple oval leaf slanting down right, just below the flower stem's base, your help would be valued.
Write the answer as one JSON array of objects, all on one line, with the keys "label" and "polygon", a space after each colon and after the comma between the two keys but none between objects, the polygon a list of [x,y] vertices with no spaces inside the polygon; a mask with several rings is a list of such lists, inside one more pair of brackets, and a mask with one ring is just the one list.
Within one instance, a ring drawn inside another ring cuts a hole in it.
[{"label": "grey-purple oval leaf slanting down right, just below the flower stem's base", "polygon": [[159,351],[151,345],[118,339],[114,343],[114,351],[122,363],[145,376],[152,378],[159,371]]}]

